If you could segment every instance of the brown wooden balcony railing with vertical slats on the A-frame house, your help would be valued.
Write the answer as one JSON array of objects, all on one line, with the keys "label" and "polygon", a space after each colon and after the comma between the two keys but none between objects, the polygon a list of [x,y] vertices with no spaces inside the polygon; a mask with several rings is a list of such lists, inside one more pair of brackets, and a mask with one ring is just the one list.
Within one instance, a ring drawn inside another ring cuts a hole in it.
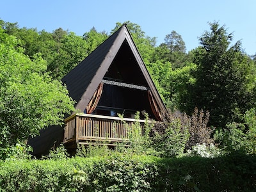
[{"label": "brown wooden balcony railing with vertical slats on the A-frame house", "polygon": [[145,120],[119,118],[115,116],[75,114],[65,119],[64,143],[76,141],[118,141],[129,140],[129,130],[134,122],[143,127]]}]

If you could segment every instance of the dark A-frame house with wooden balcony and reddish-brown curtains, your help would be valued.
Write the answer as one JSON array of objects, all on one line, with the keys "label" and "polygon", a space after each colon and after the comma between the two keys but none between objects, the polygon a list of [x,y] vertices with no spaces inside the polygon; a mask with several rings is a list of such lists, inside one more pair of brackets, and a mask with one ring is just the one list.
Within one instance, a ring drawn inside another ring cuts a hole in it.
[{"label": "dark A-frame house with wooden balcony and reddish-brown curtains", "polygon": [[[127,139],[127,124],[136,111],[161,120],[166,108],[156,90],[126,25],[119,28],[61,81],[76,100],[76,112],[65,119],[65,127],[51,127],[29,140],[35,154],[44,154],[54,143],[75,148],[77,143],[102,141],[109,145]],[[78,113],[77,113],[78,111]],[[143,120],[140,120],[143,124]],[[114,130],[115,129],[115,130]]]}]

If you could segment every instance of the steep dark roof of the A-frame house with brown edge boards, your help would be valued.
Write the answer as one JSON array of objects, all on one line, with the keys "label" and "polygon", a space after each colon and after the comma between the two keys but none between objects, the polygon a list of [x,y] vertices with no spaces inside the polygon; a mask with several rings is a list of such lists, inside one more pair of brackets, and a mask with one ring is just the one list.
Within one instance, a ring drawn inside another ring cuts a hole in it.
[{"label": "steep dark roof of the A-frame house with brown edge boards", "polygon": [[61,79],[61,81],[67,85],[70,97],[76,100],[76,109],[84,111],[125,40],[129,44],[129,47],[136,58],[140,70],[148,83],[148,87],[156,99],[159,109],[164,111],[165,107],[163,100],[159,96],[156,86],[154,86],[154,83],[148,74],[145,63],[143,62],[126,25],[122,26],[113,33],[113,35],[109,36],[109,38],[100,44],[97,49],[71,70],[67,76]]}]

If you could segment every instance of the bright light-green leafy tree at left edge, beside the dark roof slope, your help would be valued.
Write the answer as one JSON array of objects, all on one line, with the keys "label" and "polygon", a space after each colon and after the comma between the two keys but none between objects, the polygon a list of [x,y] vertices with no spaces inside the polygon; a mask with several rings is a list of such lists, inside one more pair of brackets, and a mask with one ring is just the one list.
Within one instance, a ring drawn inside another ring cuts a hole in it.
[{"label": "bright light-green leafy tree at left edge, beside the dark roof slope", "polygon": [[17,45],[0,29],[0,150],[61,124],[74,110],[65,86],[45,72],[40,54],[31,60]]}]

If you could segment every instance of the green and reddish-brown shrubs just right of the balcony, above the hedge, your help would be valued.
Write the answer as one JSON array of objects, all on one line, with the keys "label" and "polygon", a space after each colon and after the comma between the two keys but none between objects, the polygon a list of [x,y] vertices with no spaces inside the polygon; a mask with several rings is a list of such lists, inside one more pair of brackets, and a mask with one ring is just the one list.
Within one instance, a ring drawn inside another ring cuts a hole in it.
[{"label": "green and reddish-brown shrubs just right of the balcony, above the hedge", "polygon": [[154,126],[153,145],[161,157],[182,156],[186,150],[196,145],[210,147],[214,144],[211,138],[212,129],[207,127],[209,113],[195,111],[192,116],[180,112],[163,114],[163,122]]}]

